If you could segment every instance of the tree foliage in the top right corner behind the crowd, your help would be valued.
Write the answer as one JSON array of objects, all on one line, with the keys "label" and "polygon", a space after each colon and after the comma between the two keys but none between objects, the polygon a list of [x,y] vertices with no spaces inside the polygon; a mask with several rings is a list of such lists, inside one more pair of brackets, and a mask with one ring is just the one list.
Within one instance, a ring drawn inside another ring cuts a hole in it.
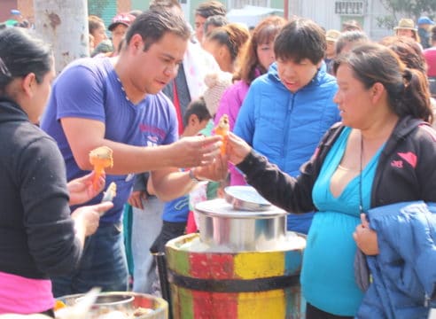
[{"label": "tree foliage in the top right corner behind the crowd", "polygon": [[417,20],[422,15],[430,18],[436,15],[435,0],[381,0],[381,4],[391,14],[378,17],[378,27],[393,28],[401,18]]}]

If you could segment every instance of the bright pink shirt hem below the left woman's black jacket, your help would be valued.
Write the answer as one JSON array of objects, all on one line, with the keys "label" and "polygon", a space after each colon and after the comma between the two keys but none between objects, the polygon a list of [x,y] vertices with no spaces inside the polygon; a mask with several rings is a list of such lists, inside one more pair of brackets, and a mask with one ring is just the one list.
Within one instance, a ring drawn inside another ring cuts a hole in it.
[{"label": "bright pink shirt hem below the left woman's black jacket", "polygon": [[54,307],[51,281],[0,271],[0,314],[36,314]]}]

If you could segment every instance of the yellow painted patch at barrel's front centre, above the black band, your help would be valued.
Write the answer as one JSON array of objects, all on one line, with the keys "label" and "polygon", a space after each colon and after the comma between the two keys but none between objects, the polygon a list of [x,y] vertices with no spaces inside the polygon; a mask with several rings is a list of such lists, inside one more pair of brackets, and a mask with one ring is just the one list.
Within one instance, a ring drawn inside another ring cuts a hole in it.
[{"label": "yellow painted patch at barrel's front centre, above the black band", "polygon": [[254,279],[284,275],[284,252],[237,253],[234,278]]}]

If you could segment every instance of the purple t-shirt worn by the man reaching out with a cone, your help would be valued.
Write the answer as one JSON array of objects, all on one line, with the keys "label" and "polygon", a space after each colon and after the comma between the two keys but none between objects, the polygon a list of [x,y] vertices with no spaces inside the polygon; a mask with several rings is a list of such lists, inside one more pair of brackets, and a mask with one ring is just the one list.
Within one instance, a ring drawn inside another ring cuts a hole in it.
[{"label": "purple t-shirt worn by the man reaching out with a cone", "polygon": [[[128,101],[110,58],[82,58],[74,61],[58,76],[41,128],[58,143],[66,161],[68,181],[89,173],[77,166],[66,141],[60,119],[90,119],[105,123],[105,138],[137,146],[171,144],[177,140],[175,107],[162,93],[147,95],[134,105]],[[83,136],[86,138],[86,136]],[[133,175],[106,175],[106,185],[117,184],[113,209],[100,222],[118,222],[127,202]],[[102,194],[86,205],[97,203]],[[74,209],[75,207],[72,207]]]}]

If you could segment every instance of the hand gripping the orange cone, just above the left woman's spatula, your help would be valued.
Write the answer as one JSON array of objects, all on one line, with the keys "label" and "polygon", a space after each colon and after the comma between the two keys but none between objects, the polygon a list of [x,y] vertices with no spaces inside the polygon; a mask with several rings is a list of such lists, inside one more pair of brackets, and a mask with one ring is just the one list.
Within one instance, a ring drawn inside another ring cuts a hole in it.
[{"label": "hand gripping the orange cone, just above the left woman's spatula", "polygon": [[96,189],[92,185],[94,175],[95,172],[92,171],[90,174],[76,178],[66,185],[70,193],[70,205],[86,203],[103,191],[105,187],[105,174],[98,178]]}]

